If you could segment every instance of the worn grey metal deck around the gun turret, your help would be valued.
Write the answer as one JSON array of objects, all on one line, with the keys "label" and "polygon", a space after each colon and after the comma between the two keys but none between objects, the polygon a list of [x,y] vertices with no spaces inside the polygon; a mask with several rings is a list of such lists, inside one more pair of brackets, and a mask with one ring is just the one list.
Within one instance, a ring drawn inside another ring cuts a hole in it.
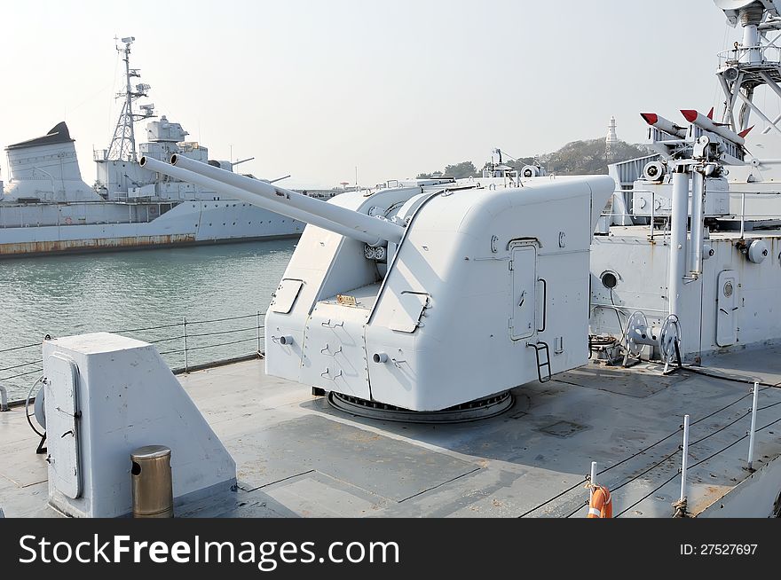
[{"label": "worn grey metal deck around the gun turret", "polygon": [[[596,461],[607,469],[597,482],[611,489],[614,515],[669,517],[685,413],[688,509],[718,515],[739,484],[779,465],[781,422],[757,433],[757,471],[746,468],[752,399],[740,382],[781,384],[779,355],[781,347],[765,347],[704,362],[703,371],[733,380],[588,364],[515,388],[500,416],[451,425],[345,414],[309,387],[266,376],[260,360],[193,372],[179,380],[233,454],[239,485],[178,506],[177,516],[583,517],[583,483]],[[759,408],[757,427],[781,418],[781,389],[762,389]],[[23,407],[0,413],[8,517],[59,515],[47,505],[37,443]]]}]

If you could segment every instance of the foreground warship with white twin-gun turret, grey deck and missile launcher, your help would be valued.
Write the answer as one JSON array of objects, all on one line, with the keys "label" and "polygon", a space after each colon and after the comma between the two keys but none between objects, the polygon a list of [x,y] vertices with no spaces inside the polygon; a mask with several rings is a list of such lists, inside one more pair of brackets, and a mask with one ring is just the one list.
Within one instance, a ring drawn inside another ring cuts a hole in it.
[{"label": "foreground warship with white twin-gun turret, grey deck and missile launcher", "polygon": [[781,117],[753,98],[781,98],[781,2],[714,2],[744,32],[722,120],[645,114],[659,155],[614,179],[500,158],[324,203],[141,160],[308,223],[264,360],[177,380],[146,342],[43,341],[49,449],[0,413],[5,513],[128,514],[154,442],[180,516],[599,517],[599,486],[615,517],[781,516]]}]

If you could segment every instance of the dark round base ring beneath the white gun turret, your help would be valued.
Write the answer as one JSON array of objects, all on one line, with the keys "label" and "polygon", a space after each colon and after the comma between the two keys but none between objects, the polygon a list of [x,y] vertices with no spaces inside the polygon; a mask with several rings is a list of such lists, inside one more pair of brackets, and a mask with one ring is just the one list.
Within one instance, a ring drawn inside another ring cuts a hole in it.
[{"label": "dark round base ring beneath the white gun turret", "polygon": [[459,404],[442,411],[410,411],[409,409],[394,407],[391,404],[367,401],[356,396],[343,395],[331,391],[328,393],[328,403],[340,411],[368,419],[404,423],[442,424],[463,423],[495,417],[512,407],[513,397],[509,391],[505,391],[500,395],[486,396],[485,398]]}]

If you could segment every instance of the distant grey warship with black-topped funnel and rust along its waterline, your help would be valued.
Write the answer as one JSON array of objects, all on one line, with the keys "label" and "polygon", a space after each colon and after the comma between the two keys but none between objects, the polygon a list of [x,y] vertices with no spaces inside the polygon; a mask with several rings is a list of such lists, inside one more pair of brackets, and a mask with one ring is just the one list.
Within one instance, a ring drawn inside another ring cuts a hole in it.
[{"label": "distant grey warship with black-topped funnel and rust along its waterline", "polygon": [[[164,115],[154,119],[154,105],[140,105],[136,112],[136,101],[146,98],[151,87],[134,83],[140,74],[130,67],[133,41],[122,38],[123,46],[117,47],[125,66],[125,88],[117,95],[122,112],[108,149],[95,152],[92,187],[83,181],[65,122],[43,137],[6,148],[11,175],[4,188],[0,181],[0,259],[300,235],[304,223],[138,165],[138,153],[155,159],[177,153],[229,171],[250,160],[209,160],[209,150],[186,141],[179,123]],[[148,142],[137,152],[135,123],[145,120],[150,120]],[[340,191],[307,193],[327,199]]]}]

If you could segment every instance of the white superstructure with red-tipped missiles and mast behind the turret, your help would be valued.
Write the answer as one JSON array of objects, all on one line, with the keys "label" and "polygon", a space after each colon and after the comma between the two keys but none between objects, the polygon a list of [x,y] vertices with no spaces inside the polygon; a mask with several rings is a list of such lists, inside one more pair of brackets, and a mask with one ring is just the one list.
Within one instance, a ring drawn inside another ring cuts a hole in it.
[{"label": "white superstructure with red-tipped missiles and mast behind the turret", "polygon": [[781,116],[765,112],[781,97],[781,6],[715,4],[743,30],[719,55],[721,111],[642,114],[659,154],[611,166],[612,226],[592,247],[592,333],[633,357],[781,340]]}]

